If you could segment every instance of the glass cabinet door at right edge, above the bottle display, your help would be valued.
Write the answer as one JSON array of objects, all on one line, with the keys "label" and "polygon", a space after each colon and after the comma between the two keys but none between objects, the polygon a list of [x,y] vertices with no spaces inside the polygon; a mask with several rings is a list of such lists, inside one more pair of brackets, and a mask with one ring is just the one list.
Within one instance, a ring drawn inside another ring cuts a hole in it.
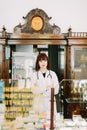
[{"label": "glass cabinet door at right edge, above the bottle display", "polygon": [[72,79],[87,79],[87,47],[73,46],[71,48]]}]

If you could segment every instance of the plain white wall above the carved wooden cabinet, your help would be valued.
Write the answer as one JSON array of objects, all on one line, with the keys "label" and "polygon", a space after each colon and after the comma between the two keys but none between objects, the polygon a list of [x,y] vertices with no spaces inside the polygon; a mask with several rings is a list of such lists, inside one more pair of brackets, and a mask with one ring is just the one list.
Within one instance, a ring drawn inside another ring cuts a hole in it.
[{"label": "plain white wall above the carved wooden cabinet", "polygon": [[14,26],[23,24],[23,16],[31,9],[43,9],[51,24],[55,23],[62,33],[69,26],[72,31],[87,32],[87,0],[0,0],[0,31],[5,25],[7,32],[13,32]]}]

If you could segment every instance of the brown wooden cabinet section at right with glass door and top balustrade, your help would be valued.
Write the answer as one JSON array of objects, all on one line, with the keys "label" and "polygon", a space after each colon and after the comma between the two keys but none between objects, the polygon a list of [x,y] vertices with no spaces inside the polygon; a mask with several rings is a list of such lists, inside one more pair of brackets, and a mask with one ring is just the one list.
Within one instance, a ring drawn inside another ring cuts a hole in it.
[{"label": "brown wooden cabinet section at right with glass door and top balustrade", "polygon": [[67,47],[67,78],[87,78],[87,33],[71,32]]}]

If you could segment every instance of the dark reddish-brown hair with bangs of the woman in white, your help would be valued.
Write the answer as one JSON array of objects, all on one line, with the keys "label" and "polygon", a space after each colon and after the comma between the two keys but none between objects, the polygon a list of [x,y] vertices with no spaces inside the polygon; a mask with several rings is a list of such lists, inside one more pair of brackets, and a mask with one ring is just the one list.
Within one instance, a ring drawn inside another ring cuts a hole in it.
[{"label": "dark reddish-brown hair with bangs of the woman in white", "polygon": [[40,53],[37,56],[37,60],[36,60],[36,65],[35,65],[35,70],[38,71],[40,69],[39,66],[39,61],[41,60],[47,60],[47,69],[50,70],[50,62],[49,62],[49,58],[45,53]]}]

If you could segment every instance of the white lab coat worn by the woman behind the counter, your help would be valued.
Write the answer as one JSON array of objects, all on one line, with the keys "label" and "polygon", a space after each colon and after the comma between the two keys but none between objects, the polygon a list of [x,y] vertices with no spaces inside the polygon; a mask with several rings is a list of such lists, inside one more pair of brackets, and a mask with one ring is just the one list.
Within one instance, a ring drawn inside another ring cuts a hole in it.
[{"label": "white lab coat worn by the woman behind the counter", "polygon": [[[33,93],[36,95],[34,99],[33,107],[38,112],[48,112],[50,111],[50,99],[51,99],[51,89],[46,91],[47,86],[52,86],[54,88],[54,95],[59,92],[59,82],[57,75],[52,70],[47,70],[45,77],[41,71],[34,72],[31,78],[32,87],[36,87]],[[41,94],[43,96],[41,96]],[[39,96],[38,96],[39,95]],[[56,102],[55,109],[56,109]]]}]

